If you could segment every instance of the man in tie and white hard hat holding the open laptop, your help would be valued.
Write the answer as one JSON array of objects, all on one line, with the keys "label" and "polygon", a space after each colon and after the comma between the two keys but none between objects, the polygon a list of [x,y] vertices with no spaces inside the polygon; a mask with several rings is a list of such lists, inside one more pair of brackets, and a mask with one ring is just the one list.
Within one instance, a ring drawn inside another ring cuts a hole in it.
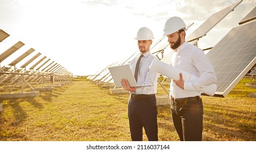
[{"label": "man in tie and white hard hat holding the open laptop", "polygon": [[[122,79],[122,87],[130,91],[128,117],[130,134],[133,141],[142,141],[142,128],[145,129],[148,141],[158,141],[157,124],[157,80],[159,74],[149,69],[155,58],[149,48],[152,45],[153,33],[147,27],[139,29],[135,40],[138,40],[140,55],[130,61],[135,80],[142,87],[130,87],[126,79]],[[137,70],[136,70],[137,69]]]}]

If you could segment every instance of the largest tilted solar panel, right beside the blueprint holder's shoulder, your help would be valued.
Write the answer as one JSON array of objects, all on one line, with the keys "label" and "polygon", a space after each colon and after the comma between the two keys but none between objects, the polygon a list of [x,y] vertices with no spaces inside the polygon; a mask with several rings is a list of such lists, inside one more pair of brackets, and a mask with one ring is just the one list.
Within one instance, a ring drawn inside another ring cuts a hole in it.
[{"label": "largest tilted solar panel, right beside the blueprint holder's shoulder", "polygon": [[256,64],[256,21],[233,28],[218,42],[207,58],[217,75],[215,96],[226,97]]}]

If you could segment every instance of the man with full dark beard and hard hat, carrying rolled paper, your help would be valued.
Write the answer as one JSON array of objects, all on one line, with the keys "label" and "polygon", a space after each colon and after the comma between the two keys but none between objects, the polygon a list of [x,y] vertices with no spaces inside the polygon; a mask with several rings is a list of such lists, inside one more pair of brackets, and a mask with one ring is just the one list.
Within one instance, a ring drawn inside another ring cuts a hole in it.
[{"label": "man with full dark beard and hard hat, carrying rolled paper", "polygon": [[198,78],[179,80],[170,84],[171,115],[180,141],[202,141],[203,103],[199,97],[201,88],[216,84],[216,74],[202,49],[185,41],[186,25],[179,17],[169,18],[164,27],[170,47],[174,50],[172,66],[182,69]]}]

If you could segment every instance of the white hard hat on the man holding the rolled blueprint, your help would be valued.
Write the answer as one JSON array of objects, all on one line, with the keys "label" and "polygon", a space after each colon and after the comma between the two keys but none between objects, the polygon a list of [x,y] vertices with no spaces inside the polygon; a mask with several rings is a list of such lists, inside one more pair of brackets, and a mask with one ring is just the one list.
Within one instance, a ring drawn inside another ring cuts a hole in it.
[{"label": "white hard hat on the man holding the rolled blueprint", "polygon": [[180,29],[186,30],[186,24],[179,17],[171,17],[165,22],[164,34],[163,36],[172,34]]}]

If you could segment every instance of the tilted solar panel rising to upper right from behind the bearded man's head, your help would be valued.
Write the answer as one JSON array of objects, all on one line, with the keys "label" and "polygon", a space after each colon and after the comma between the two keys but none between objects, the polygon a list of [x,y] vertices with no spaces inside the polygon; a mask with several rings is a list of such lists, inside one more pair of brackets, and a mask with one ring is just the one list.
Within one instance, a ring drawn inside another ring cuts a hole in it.
[{"label": "tilted solar panel rising to upper right from behind the bearded man's head", "polygon": [[199,26],[193,33],[191,33],[188,37],[186,37],[186,41],[190,42],[196,39],[203,37],[208,33],[210,29],[212,29],[218,22],[220,22],[225,16],[229,14],[229,12],[233,11],[236,6],[238,6],[242,1],[236,2],[229,7],[216,12],[211,15],[201,26]]}]

